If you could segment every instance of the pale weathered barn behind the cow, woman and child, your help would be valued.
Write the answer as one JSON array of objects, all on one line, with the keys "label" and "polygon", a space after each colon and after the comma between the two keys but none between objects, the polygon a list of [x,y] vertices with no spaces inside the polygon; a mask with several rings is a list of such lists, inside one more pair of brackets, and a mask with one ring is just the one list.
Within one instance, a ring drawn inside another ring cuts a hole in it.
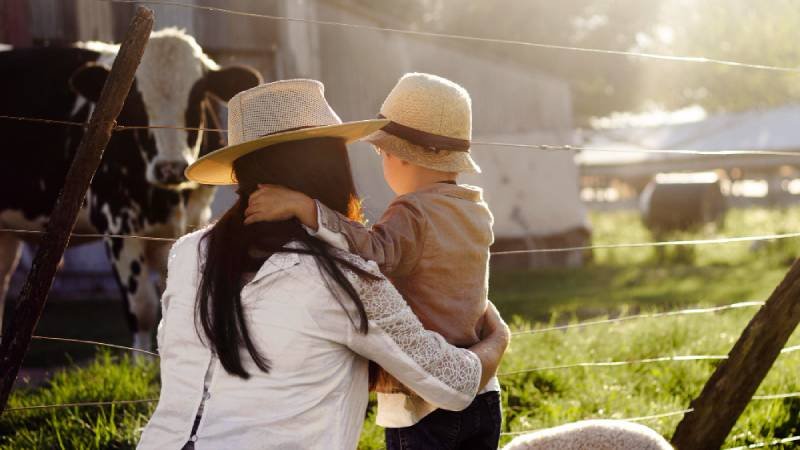
[{"label": "pale weathered barn behind the cow, woman and child", "polygon": [[[187,0],[186,3],[193,3]],[[199,2],[198,2],[199,3]],[[252,2],[208,0],[203,5],[297,18],[391,27],[392,17],[352,1]],[[0,13],[0,42],[13,46],[63,46],[75,41],[117,41],[133,5],[91,0],[7,0]],[[152,5],[156,28],[177,26],[193,35],[221,65],[258,68],[266,80],[311,77],[322,80],[344,120],[372,117],[405,72],[427,71],[464,85],[472,94],[473,139],[521,144],[573,143],[570,91],[566,82],[531,71],[491,52],[476,53],[463,43],[264,20]],[[498,81],[502,80],[502,82]],[[569,152],[475,145],[484,173],[464,181],[483,186],[495,213],[495,250],[584,245],[590,240],[587,212],[578,192],[578,170]],[[391,199],[379,160],[366,145],[352,149],[359,190],[368,218],[375,220]],[[213,210],[223,211],[232,191],[218,191]],[[16,285],[26,272],[23,258]],[[574,266],[584,254],[566,252],[498,258],[513,267]],[[118,294],[98,244],[68,251],[57,282],[57,297]]]}]

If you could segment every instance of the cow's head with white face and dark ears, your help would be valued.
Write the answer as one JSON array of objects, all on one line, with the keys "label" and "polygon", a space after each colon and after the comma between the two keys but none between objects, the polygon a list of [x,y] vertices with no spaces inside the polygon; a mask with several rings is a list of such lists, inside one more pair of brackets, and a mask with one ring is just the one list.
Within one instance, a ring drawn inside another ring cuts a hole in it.
[{"label": "cow's head with white face and dark ears", "polygon": [[[96,102],[108,72],[102,64],[86,65],[73,74],[72,87]],[[194,38],[182,31],[157,31],[150,37],[117,122],[217,128],[217,123],[209,121],[212,99],[228,101],[261,81],[258,72],[248,67],[219,68]],[[204,132],[157,128],[123,132],[132,133],[142,151],[149,182],[167,189],[191,186],[183,172],[198,158]]]}]

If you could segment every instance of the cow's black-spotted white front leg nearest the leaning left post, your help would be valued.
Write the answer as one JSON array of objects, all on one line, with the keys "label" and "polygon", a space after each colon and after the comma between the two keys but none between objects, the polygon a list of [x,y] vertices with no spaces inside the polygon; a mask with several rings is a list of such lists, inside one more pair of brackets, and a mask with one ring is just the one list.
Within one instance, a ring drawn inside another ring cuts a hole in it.
[{"label": "cow's black-spotted white front leg nearest the leaning left post", "polygon": [[140,239],[108,239],[111,265],[122,291],[133,347],[152,350],[151,333],[158,315],[158,293],[150,282],[146,243]]}]

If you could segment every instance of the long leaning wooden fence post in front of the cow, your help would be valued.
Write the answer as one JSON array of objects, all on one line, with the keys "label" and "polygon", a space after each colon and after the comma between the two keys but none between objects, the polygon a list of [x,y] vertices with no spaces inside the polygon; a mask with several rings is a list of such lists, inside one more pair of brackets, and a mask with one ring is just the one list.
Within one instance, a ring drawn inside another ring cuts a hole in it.
[{"label": "long leaning wooden fence post in front of the cow", "polygon": [[86,190],[114,131],[116,118],[133,84],[136,68],[152,29],[153,12],[147,8],[138,8],[69,168],[66,183],[50,215],[47,231],[31,264],[13,320],[0,345],[0,380],[3,383],[0,390],[0,411],[5,411],[11,387],[44,309],[47,294],[69,242]]}]

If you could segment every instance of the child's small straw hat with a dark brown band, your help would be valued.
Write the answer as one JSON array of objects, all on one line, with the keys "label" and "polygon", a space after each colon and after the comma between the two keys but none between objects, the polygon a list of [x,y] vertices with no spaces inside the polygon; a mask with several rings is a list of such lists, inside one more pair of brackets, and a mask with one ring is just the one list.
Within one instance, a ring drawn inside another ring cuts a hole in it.
[{"label": "child's small straw hat with a dark brown band", "polygon": [[443,172],[481,169],[469,154],[472,101],[458,84],[427,73],[408,73],[381,106],[391,120],[364,140],[418,166]]}]

